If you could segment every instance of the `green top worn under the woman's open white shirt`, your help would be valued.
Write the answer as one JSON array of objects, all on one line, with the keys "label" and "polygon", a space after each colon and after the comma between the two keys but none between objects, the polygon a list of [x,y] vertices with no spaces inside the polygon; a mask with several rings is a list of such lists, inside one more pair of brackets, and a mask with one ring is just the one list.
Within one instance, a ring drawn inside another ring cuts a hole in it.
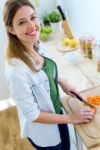
[{"label": "green top worn under the woman's open white shirt", "polygon": [[54,61],[50,60],[49,58],[44,58],[45,64],[42,70],[47,74],[49,83],[50,83],[50,96],[51,100],[54,105],[54,109],[56,113],[60,113],[61,111],[61,103],[60,103],[60,96],[57,84],[57,68]]}]

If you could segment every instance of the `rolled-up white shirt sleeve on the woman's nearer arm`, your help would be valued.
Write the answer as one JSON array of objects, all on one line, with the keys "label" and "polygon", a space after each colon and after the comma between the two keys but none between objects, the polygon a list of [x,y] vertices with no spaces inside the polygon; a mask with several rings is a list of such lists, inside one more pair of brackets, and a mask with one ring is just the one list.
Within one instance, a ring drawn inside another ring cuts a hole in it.
[{"label": "rolled-up white shirt sleeve on the woman's nearer arm", "polygon": [[8,86],[11,96],[15,100],[17,107],[22,111],[29,121],[36,120],[40,115],[39,106],[32,95],[27,74],[16,69],[8,77]]}]

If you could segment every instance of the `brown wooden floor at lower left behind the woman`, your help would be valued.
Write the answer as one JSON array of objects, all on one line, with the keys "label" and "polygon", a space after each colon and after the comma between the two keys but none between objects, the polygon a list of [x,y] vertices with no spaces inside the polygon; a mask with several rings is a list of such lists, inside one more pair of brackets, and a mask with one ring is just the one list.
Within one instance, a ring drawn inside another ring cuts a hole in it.
[{"label": "brown wooden floor at lower left behind the woman", "polygon": [[0,150],[35,150],[19,133],[16,107],[0,111]]}]

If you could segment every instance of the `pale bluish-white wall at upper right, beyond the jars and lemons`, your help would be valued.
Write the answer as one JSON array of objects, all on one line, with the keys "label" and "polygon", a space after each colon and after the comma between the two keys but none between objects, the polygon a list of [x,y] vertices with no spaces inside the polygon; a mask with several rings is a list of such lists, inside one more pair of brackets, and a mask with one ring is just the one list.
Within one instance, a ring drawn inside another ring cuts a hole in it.
[{"label": "pale bluish-white wall at upper right, beyond the jars and lemons", "polygon": [[71,27],[78,36],[92,34],[100,39],[100,0],[62,0]]}]

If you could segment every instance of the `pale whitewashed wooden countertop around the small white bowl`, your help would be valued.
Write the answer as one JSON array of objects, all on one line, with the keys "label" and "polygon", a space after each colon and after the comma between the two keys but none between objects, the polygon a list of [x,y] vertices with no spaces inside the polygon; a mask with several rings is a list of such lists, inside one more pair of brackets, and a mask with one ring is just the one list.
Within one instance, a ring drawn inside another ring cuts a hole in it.
[{"label": "pale whitewashed wooden countertop around the small white bowl", "polygon": [[[79,91],[100,85],[100,73],[97,72],[96,64],[91,59],[84,57],[79,48],[71,52],[59,51],[58,42],[61,41],[61,38],[53,35],[49,41],[43,43],[46,50],[56,60],[59,75],[66,78]],[[67,55],[73,52],[78,55],[78,59],[75,62],[68,61]]]}]

